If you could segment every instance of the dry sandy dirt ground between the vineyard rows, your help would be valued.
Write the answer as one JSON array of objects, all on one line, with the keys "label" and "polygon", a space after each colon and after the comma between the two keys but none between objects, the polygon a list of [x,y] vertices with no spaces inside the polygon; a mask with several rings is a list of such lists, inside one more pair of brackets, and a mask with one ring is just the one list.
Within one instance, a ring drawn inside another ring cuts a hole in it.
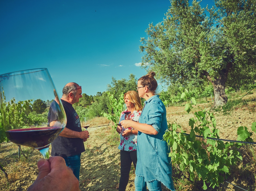
[{"label": "dry sandy dirt ground between the vineyard rows", "polygon": [[[256,97],[256,94],[252,96]],[[254,105],[255,106],[255,105]],[[199,104],[194,108],[194,111],[202,110],[203,108],[210,109],[210,103]],[[189,118],[192,114],[186,114],[184,107],[169,107],[167,108],[168,121],[170,123],[177,122],[182,126],[182,129],[189,132]],[[220,129],[222,139],[236,140],[237,128],[246,126],[250,129],[252,122],[256,121],[256,113],[251,112],[247,108],[237,108],[230,115],[222,115],[221,112],[214,113],[217,120],[217,127]],[[105,126],[101,126],[106,124]],[[120,178],[120,154],[117,149],[119,143],[118,136],[111,134],[110,123],[105,118],[95,119],[91,122],[90,139],[85,142],[86,151],[81,155],[81,172],[80,172],[80,188],[81,191],[117,191]],[[101,127],[97,127],[101,126]],[[253,139],[256,141],[254,135]],[[3,172],[0,172],[0,191],[25,191],[31,185],[38,173],[37,160],[41,158],[39,151],[21,146],[27,159],[21,156],[18,159],[18,148],[15,144],[2,143],[0,145],[0,163],[8,173],[9,182],[5,178]],[[132,167],[130,179],[127,186],[127,191],[134,191],[135,169]],[[254,180],[255,181],[255,180]],[[231,183],[236,183],[236,180]],[[176,188],[179,183],[175,183]],[[246,188],[245,183],[239,184]],[[236,184],[237,185],[237,184]],[[201,190],[201,186],[188,186],[177,190],[196,191]],[[209,189],[212,190],[212,189]],[[237,189],[233,185],[225,183],[222,185],[222,191],[242,190]],[[163,191],[167,189],[163,188]]]}]

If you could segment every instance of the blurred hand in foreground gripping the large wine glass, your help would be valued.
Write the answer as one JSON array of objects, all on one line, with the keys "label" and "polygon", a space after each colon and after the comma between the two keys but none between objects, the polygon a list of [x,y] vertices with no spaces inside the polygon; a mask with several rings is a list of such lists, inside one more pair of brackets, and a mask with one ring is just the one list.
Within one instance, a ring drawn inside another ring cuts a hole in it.
[{"label": "blurred hand in foreground gripping the large wine glass", "polygon": [[38,176],[27,191],[80,191],[78,179],[62,157],[39,159],[37,167]]}]

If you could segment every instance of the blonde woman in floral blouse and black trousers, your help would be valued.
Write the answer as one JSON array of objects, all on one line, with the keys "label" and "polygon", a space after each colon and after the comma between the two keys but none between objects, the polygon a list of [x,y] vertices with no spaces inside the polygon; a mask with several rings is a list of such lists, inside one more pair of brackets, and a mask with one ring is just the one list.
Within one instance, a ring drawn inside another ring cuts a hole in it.
[{"label": "blonde woman in floral blouse and black trousers", "polygon": [[[136,91],[128,91],[124,95],[124,102],[130,104],[128,111],[131,111],[129,115],[121,113],[120,121],[130,119],[133,121],[139,121],[141,115],[141,99]],[[121,177],[119,181],[119,191],[125,191],[129,180],[129,172],[131,164],[133,162],[136,168],[137,163],[137,134],[138,130],[129,127],[124,129],[123,127],[117,126],[116,131],[120,133],[120,158],[121,158]]]}]

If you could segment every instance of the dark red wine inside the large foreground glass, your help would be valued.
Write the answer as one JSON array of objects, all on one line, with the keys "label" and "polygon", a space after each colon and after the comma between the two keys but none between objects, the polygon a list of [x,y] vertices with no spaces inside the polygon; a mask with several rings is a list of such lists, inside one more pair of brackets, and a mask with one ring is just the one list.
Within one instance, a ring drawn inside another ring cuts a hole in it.
[{"label": "dark red wine inside the large foreground glass", "polygon": [[10,141],[17,145],[40,148],[51,144],[64,127],[34,127],[6,131]]}]

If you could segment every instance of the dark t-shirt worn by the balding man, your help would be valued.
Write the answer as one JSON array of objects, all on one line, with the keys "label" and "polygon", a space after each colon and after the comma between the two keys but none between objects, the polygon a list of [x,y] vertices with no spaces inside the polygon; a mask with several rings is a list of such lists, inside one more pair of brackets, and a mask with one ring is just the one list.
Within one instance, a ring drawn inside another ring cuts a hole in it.
[{"label": "dark t-shirt worn by the balding man", "polygon": [[[79,116],[74,110],[71,103],[61,100],[64,110],[67,115],[67,125],[65,128],[69,128],[72,131],[81,132],[81,124]],[[50,107],[51,109],[51,107]],[[50,111],[49,111],[50,113]],[[48,119],[56,119],[57,116],[48,116]],[[52,143],[52,156],[69,157],[85,152],[83,140],[80,138],[67,138],[58,136]]]}]

